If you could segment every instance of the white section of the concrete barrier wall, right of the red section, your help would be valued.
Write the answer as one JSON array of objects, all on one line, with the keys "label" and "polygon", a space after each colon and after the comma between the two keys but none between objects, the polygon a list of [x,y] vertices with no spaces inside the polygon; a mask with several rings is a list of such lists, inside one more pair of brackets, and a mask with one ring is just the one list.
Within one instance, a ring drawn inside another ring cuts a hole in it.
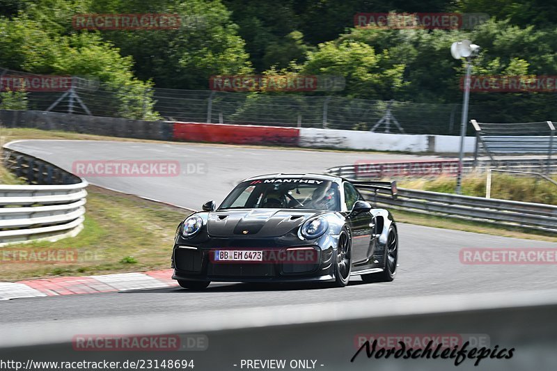
[{"label": "white section of the concrete barrier wall, right of the red section", "polygon": [[[310,148],[457,153],[460,150],[460,137],[450,135],[384,134],[361,132],[358,130],[301,127],[299,145],[300,147]],[[476,137],[466,137],[464,152],[474,152],[475,145]]]}]

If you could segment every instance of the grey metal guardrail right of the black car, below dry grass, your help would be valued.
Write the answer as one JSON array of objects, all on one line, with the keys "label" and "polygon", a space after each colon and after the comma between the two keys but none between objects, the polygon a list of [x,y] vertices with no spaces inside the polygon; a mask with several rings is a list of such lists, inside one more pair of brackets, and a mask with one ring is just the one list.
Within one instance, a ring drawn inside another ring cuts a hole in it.
[{"label": "grey metal guardrail right of the black car, below dry grass", "polygon": [[[354,166],[338,166],[329,168],[326,172],[354,180],[361,178]],[[395,200],[389,191],[382,189],[377,190],[377,195],[366,189],[361,189],[361,193],[368,200],[377,200],[378,204],[386,205],[394,210],[557,233],[556,205],[460,196],[405,188],[398,189],[398,196]]]}]

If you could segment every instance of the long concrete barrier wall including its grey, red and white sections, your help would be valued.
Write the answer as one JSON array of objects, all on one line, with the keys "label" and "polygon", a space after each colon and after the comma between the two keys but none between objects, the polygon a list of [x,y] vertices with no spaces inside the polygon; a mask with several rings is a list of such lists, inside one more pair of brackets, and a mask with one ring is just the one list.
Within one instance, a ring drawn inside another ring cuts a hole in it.
[{"label": "long concrete barrier wall including its grey, red and white sections", "polygon": [[[208,143],[299,145],[306,148],[350,148],[400,152],[457,153],[460,138],[448,135],[384,134],[357,130],[264,125],[170,123],[127,120],[45,111],[0,110],[6,127],[33,127],[161,141],[201,141]],[[476,138],[467,137],[465,152],[473,152]]]}]

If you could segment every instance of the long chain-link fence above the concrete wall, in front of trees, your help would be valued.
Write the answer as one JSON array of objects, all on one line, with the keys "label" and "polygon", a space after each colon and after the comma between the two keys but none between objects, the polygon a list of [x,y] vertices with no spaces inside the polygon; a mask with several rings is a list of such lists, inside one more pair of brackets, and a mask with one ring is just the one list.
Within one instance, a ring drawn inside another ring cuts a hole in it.
[{"label": "long chain-link fence above the concrete wall, in front of trees", "polygon": [[[0,109],[33,109],[143,120],[356,129],[407,134],[460,133],[461,104],[419,104],[301,93],[228,93],[120,86],[82,77],[0,70]],[[10,103],[10,104],[8,104]],[[469,117],[493,109],[470,106]],[[473,134],[469,127],[469,134]]]}]

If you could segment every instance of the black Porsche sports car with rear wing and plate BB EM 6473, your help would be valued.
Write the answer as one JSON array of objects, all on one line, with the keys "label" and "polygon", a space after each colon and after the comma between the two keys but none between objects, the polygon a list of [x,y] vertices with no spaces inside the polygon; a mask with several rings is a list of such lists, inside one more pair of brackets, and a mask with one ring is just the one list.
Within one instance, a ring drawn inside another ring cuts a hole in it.
[{"label": "black Porsche sports car with rear wing and plate BB EM 6473", "polygon": [[331,175],[251,177],[217,208],[213,201],[182,221],[173,277],[201,290],[211,281],[393,281],[398,233],[387,210],[359,191],[389,191],[395,182],[349,182]]}]

